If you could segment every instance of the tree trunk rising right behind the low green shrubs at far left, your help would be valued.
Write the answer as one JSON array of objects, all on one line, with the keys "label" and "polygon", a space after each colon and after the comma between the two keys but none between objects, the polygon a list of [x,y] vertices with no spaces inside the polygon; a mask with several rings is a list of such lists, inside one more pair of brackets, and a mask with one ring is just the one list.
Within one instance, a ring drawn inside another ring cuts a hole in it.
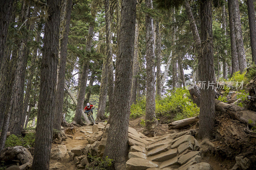
[{"label": "tree trunk rising right behind the low green shrubs at far left", "polygon": [[[20,23],[23,23],[26,18],[29,16],[29,6],[24,1],[23,10],[24,15],[22,15],[22,19]],[[26,24],[28,29],[28,24]],[[16,75],[14,78],[14,85],[12,87],[12,100],[13,106],[11,111],[10,118],[10,134],[14,134],[16,136],[21,135],[21,122],[23,116],[23,98],[24,98],[24,86],[25,86],[25,75],[26,75],[26,67],[28,63],[28,50],[27,48],[28,38],[24,38],[20,41],[20,49],[18,52],[18,63],[16,68]]]}]

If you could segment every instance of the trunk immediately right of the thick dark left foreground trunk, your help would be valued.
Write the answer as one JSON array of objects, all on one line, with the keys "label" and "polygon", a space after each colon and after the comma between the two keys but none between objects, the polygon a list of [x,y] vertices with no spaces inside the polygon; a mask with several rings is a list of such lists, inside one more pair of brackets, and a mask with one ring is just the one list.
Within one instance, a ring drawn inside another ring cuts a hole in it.
[{"label": "trunk immediately right of the thick dark left foreground trunk", "polygon": [[63,25],[63,30],[61,33],[60,39],[60,64],[58,71],[58,81],[57,81],[57,90],[56,90],[56,107],[54,110],[54,122],[53,129],[57,129],[60,131],[61,122],[62,122],[62,108],[64,101],[64,84],[65,84],[65,70],[66,70],[66,59],[67,59],[67,51],[68,51],[68,32],[70,26],[70,17],[73,0],[67,0],[65,19]]}]

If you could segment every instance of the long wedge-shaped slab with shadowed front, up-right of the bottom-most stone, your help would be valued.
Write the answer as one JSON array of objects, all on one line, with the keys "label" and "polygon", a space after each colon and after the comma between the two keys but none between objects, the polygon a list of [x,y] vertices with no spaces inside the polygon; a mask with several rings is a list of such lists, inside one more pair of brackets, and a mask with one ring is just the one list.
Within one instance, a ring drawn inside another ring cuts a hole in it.
[{"label": "long wedge-shaped slab with shadowed front, up-right of the bottom-most stone", "polygon": [[155,161],[155,162],[163,162],[165,160],[168,160],[168,159],[171,159],[171,158],[174,158],[175,156],[177,156],[177,151],[178,151],[177,148],[170,149],[169,151],[162,152],[162,153],[159,153],[154,156],[150,156],[150,157],[148,157],[148,159]]}]

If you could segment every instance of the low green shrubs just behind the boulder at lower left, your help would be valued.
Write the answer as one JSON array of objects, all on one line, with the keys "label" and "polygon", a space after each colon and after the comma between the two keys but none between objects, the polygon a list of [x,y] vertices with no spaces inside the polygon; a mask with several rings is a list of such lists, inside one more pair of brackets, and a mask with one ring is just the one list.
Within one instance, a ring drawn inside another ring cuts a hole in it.
[{"label": "low green shrubs just behind the boulder at lower left", "polygon": [[10,135],[6,138],[4,147],[11,147],[11,146],[23,146],[27,147],[34,147],[35,146],[35,133],[28,133],[25,137],[22,136],[15,136]]}]

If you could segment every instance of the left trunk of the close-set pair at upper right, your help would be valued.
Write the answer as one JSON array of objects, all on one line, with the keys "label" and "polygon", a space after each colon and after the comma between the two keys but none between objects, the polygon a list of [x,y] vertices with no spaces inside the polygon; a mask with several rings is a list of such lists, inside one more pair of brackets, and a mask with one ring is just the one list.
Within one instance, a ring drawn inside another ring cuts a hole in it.
[{"label": "left trunk of the close-set pair at upper right", "polygon": [[231,65],[232,65],[232,76],[235,72],[239,71],[238,56],[236,51],[236,36],[235,36],[235,26],[234,17],[232,14],[232,0],[228,0],[228,15],[229,15],[229,30],[230,30],[230,47],[231,47]]}]

